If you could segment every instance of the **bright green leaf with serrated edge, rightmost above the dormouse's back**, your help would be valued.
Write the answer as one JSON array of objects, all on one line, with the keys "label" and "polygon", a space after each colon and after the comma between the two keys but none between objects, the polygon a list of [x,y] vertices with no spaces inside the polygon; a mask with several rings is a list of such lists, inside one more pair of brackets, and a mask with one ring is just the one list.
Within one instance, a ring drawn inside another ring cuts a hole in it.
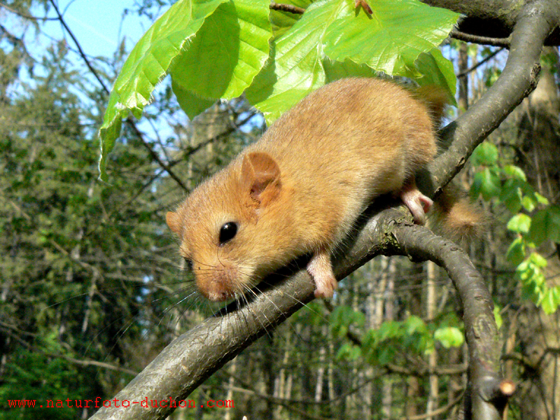
[{"label": "bright green leaf with serrated edge, rightmost above the dormouse's back", "polygon": [[417,78],[416,58],[440,45],[458,18],[454,12],[416,0],[370,3],[371,16],[357,11],[351,0],[340,2],[342,7],[323,38],[328,57],[340,62],[351,59],[393,76]]}]

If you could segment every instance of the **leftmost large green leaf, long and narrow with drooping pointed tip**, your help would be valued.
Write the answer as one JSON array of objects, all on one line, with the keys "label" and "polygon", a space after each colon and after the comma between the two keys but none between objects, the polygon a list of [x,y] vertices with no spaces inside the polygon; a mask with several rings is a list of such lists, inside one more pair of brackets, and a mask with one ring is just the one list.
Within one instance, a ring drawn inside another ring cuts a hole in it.
[{"label": "leftmost large green leaf, long and narrow with drooping pointed tip", "polygon": [[107,155],[120,135],[123,118],[137,118],[151,100],[151,93],[167,74],[172,60],[192,40],[208,15],[226,0],[179,0],[142,36],[130,52],[109,96],[103,125],[99,130],[102,153],[100,178],[107,175]]}]

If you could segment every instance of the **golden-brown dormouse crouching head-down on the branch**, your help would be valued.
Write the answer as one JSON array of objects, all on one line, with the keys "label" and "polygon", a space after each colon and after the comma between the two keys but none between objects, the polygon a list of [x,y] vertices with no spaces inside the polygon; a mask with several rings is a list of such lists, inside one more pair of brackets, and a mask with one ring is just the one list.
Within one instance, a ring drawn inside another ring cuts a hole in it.
[{"label": "golden-brown dormouse crouching head-down on the branch", "polygon": [[331,252],[375,197],[398,196],[425,222],[432,201],[414,173],[435,153],[430,110],[414,94],[374,78],[337,80],[198,186],[167,225],[210,300],[241,295],[306,253],[316,297],[332,297]]}]

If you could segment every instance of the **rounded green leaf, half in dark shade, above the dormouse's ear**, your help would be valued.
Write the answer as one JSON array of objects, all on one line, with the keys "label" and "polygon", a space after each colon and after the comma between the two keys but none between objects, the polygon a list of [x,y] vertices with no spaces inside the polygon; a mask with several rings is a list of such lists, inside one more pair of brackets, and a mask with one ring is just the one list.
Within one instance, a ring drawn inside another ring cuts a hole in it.
[{"label": "rounded green leaf, half in dark shade, above the dormouse's ear", "polygon": [[239,97],[269,56],[268,0],[230,0],[204,21],[172,64],[175,85],[204,99]]}]

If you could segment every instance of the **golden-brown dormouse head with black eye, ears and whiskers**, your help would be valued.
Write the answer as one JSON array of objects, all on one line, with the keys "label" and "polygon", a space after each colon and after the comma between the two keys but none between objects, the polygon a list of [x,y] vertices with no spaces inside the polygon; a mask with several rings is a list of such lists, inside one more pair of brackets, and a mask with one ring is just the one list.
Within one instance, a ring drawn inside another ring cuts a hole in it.
[{"label": "golden-brown dormouse head with black eye, ears and whiskers", "polygon": [[244,153],[167,213],[202,295],[232,299],[284,263],[277,261],[274,239],[283,193],[276,161],[267,153]]}]

